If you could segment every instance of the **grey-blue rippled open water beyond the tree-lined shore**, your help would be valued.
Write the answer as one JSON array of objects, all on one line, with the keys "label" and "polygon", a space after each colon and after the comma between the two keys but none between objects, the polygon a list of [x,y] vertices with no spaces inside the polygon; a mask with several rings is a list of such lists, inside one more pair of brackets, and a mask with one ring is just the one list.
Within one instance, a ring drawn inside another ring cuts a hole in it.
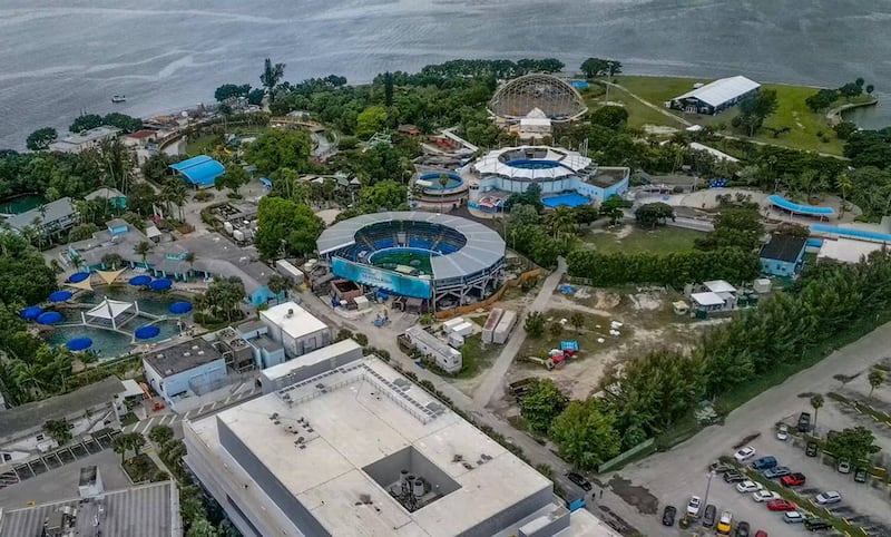
[{"label": "grey-blue rippled open water beyond the tree-lined shore", "polygon": [[[620,59],[629,74],[838,86],[891,100],[889,0],[0,0],[0,147],[81,110],[145,116],[225,82],[354,82],[453,58]],[[127,96],[112,105],[110,97]],[[859,113],[891,125],[891,102]]]}]

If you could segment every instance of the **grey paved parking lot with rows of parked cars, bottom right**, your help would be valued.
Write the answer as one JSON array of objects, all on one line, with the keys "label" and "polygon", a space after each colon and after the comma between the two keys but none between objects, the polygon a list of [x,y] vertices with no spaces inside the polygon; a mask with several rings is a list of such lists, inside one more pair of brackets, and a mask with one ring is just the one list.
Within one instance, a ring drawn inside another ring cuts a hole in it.
[{"label": "grey paved parking lot with rows of parked cars, bottom right", "polygon": [[[781,420],[791,420],[794,423],[799,412],[812,412],[809,402],[811,393],[829,393],[848,388],[840,375],[859,378],[869,367],[881,361],[889,348],[891,326],[884,325],[740,407],[726,418],[723,427],[709,427],[670,451],[656,453],[624,468],[616,477],[629,481],[628,488],[635,488],[638,495],[638,498],[630,500],[625,498],[626,501],[637,501],[638,506],[646,504],[646,512],[655,519],[660,519],[666,505],[673,505],[678,509],[679,518],[691,495],[705,496],[708,463],[721,456],[731,456],[737,446],[751,445],[757,449],[755,458],[773,455],[781,465],[803,472],[807,477],[805,486],[800,487],[803,497],[811,498],[823,490],[838,490],[844,498],[835,508],[839,509],[839,515],[872,526],[872,535],[891,535],[891,530],[887,529],[891,527],[891,504],[889,491],[883,490],[883,486],[874,488],[869,484],[855,484],[852,475],[839,473],[820,459],[805,457],[804,450],[794,447],[791,439],[787,442],[776,440],[774,430],[775,423]],[[848,382],[852,383],[850,380]],[[888,388],[882,390],[891,391]],[[879,396],[879,390],[875,396]],[[821,429],[824,424],[838,430],[862,424],[852,421],[829,398],[820,410],[817,420]],[[874,427],[870,429],[874,430]],[[877,438],[883,432],[877,432]],[[882,440],[879,443],[883,450],[891,448],[891,445],[884,445]],[[649,496],[649,501],[639,498],[645,494]],[[737,492],[735,486],[724,482],[721,477],[712,480],[707,502],[714,504],[718,511],[731,510],[734,523],[748,521],[752,535],[758,529],[772,536],[811,535],[801,525],[783,523],[782,514],[772,512],[765,505],[756,504],[751,494]],[[695,526],[691,529],[695,529]],[[689,534],[689,530],[679,530],[675,526],[673,529],[663,528],[658,535]]]}]

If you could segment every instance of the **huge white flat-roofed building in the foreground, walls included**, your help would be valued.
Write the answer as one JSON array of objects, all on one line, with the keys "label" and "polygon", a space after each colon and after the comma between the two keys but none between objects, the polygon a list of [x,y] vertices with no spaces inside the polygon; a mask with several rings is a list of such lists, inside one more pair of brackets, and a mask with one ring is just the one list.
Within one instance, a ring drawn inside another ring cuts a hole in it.
[{"label": "huge white flat-roofed building in the foreground, walls included", "polygon": [[183,429],[186,463],[246,537],[615,535],[375,358]]}]

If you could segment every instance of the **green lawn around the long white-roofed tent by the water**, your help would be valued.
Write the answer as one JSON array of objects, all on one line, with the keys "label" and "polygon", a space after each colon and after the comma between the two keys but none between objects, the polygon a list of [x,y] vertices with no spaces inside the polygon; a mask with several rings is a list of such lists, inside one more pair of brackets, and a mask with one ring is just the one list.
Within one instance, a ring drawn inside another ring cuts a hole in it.
[{"label": "green lawn around the long white-roofed tent by the water", "polygon": [[[627,88],[635,95],[640,96],[653,105],[663,107],[666,100],[693,89],[693,85],[695,82],[709,82],[712,80],[707,78],[628,76],[618,77],[618,81],[623,87]],[[757,133],[753,138],[754,140],[795,149],[829,153],[832,155],[842,154],[842,146],[844,144],[830,128],[829,124],[826,123],[825,115],[822,113],[817,114],[811,111],[804,104],[804,99],[816,91],[816,88],[777,84],[765,84],[763,85],[763,88],[773,89],[776,91],[780,106],[777,110],[767,118],[767,121],[764,125],[766,128]],[[628,96],[626,97],[630,98]],[[610,100],[619,99],[614,99],[613,94],[610,94]],[[836,105],[842,104],[844,102],[836,102]],[[638,104],[638,107],[644,106]],[[647,109],[640,113],[638,107],[627,108],[628,115],[631,116],[628,120],[631,126],[650,123],[655,125],[668,125],[672,127],[677,127],[677,125],[675,125],[668,117],[662,116],[662,120],[658,120],[659,118],[654,116],[655,110]],[[640,114],[639,118],[634,117],[638,113]],[[673,110],[672,114],[678,117],[682,116],[681,113],[676,110]],[[683,115],[683,117],[687,121],[699,125],[716,127],[723,124],[724,126],[730,127],[730,124],[736,114],[737,110],[733,108],[718,116]],[[767,128],[783,127],[789,127],[791,130],[780,135],[776,138],[772,131],[767,130]],[[825,134],[829,141],[822,141],[817,136],[819,133]],[[735,131],[726,131],[726,134],[741,136]]]}]

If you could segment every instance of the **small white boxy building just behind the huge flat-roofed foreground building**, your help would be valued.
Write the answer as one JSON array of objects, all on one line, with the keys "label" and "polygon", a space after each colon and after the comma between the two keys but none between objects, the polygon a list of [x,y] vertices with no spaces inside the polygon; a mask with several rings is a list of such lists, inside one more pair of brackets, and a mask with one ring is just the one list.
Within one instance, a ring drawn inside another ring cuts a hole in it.
[{"label": "small white boxy building just behind the huge flat-roofed foreground building", "polygon": [[268,335],[285,348],[287,358],[295,358],[331,343],[327,325],[296,302],[283,302],[260,312]]}]

